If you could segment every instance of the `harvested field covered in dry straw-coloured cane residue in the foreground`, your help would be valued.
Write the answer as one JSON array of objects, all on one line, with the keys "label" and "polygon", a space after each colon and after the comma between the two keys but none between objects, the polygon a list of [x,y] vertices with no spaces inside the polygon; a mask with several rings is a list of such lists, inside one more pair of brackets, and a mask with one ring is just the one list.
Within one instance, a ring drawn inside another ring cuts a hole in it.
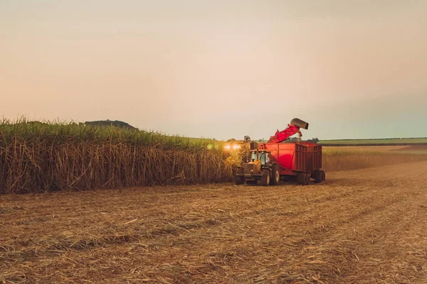
[{"label": "harvested field covered in dry straw-coloured cane residue in the foreground", "polygon": [[0,283],[427,283],[427,162],[0,196]]}]

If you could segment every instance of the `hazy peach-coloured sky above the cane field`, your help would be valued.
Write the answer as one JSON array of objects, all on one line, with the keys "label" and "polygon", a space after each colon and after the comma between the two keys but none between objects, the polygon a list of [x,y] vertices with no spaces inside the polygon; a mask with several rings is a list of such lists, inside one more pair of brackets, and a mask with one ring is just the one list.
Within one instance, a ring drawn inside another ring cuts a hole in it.
[{"label": "hazy peach-coloured sky above the cane field", "polygon": [[0,116],[427,136],[427,1],[0,0]]}]

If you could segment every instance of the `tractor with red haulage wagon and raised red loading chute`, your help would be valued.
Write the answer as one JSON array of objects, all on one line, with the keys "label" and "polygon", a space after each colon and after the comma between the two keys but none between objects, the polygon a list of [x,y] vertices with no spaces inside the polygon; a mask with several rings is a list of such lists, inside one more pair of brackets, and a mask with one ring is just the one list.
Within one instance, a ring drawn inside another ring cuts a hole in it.
[{"label": "tractor with red haulage wagon and raised red loading chute", "polygon": [[[322,170],[322,146],[300,141],[300,129],[308,129],[308,123],[292,119],[283,131],[276,131],[267,143],[251,143],[251,160],[237,168],[234,174],[236,185],[243,183],[278,185],[280,180],[294,181],[298,185],[325,180]],[[297,142],[283,143],[298,134]]]}]

